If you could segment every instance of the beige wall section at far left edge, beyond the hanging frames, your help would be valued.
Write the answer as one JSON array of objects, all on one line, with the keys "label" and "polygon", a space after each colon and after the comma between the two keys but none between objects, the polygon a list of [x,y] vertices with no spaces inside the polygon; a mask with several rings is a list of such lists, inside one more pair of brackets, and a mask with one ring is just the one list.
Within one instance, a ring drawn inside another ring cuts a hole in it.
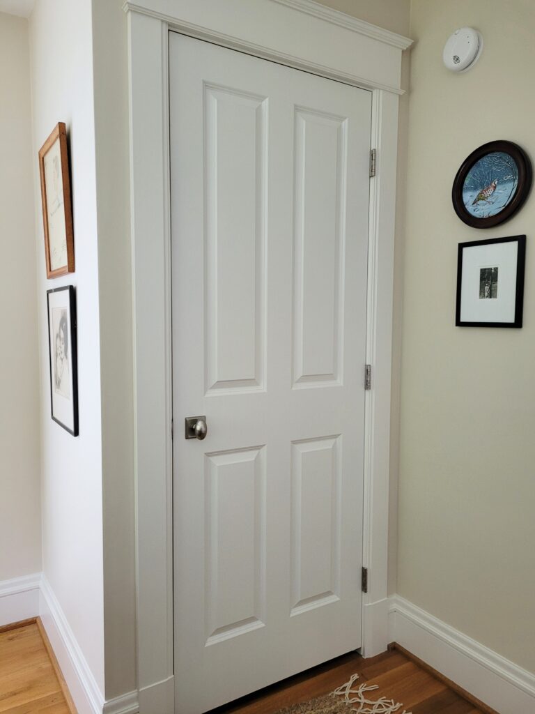
[{"label": "beige wall section at far left edge, beyond the hanging frames", "polygon": [[0,14],[0,581],[41,570],[28,24]]}]

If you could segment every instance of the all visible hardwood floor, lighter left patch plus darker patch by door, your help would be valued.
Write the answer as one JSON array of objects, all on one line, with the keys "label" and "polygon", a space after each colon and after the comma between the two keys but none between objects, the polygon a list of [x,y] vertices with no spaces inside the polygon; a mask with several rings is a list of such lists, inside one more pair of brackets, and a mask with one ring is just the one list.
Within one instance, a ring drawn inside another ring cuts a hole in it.
[{"label": "all visible hardwood floor, lighter left patch plus darker patch by door", "polygon": [[[359,683],[379,685],[370,698],[385,696],[402,703],[400,712],[404,708],[412,714],[496,714],[395,648],[368,660],[357,653],[343,655],[210,714],[274,714],[332,692],[355,673]],[[0,628],[0,714],[76,714],[39,621]]]}]

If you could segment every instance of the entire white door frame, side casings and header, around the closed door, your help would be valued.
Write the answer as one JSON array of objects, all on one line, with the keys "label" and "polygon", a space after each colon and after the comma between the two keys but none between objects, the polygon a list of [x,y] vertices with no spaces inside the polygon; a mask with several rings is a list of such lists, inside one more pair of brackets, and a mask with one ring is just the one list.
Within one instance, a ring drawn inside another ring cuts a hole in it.
[{"label": "entire white door frame, side casings and header, around the closed door", "polygon": [[367,286],[366,361],[373,381],[365,393],[362,562],[369,575],[361,650],[366,657],[388,644],[397,113],[402,51],[412,41],[313,0],[126,0],[123,9],[130,84],[138,690],[141,714],[173,714],[168,32],[372,91],[377,174],[370,179]]}]

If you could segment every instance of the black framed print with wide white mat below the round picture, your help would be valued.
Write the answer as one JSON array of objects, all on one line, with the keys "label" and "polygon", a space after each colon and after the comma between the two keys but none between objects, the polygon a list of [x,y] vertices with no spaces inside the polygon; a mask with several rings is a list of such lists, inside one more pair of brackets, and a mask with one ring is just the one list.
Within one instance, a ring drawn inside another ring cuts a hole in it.
[{"label": "black framed print with wide white mat below the round picture", "polygon": [[526,236],[459,243],[457,327],[521,327]]}]

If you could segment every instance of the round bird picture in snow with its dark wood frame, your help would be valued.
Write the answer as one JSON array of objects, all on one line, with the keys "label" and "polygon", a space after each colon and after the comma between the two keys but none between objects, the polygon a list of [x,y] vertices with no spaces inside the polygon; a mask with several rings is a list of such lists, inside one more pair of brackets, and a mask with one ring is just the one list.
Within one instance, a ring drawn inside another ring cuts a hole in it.
[{"label": "round bird picture in snow with its dark wood frame", "polygon": [[473,228],[504,223],[521,208],[531,188],[531,162],[512,141],[490,141],[464,159],[453,182],[457,216]]}]

